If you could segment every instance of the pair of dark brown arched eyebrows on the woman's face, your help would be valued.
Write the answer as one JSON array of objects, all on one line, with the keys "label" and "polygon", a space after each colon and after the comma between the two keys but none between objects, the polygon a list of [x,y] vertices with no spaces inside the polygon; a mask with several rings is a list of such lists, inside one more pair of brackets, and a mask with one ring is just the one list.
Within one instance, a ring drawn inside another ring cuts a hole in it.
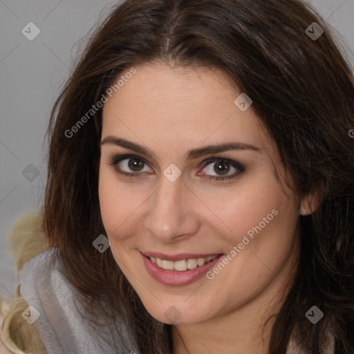
[{"label": "pair of dark brown arched eyebrows on the woman's face", "polygon": [[[149,158],[156,158],[160,160],[156,153],[153,153],[150,149],[143,147],[142,145],[137,144],[136,142],[131,142],[129,140],[125,140],[123,138],[118,138],[116,136],[107,136],[102,140],[101,146],[106,144],[117,145],[120,147],[125,147],[126,149],[131,149],[133,151],[137,151],[138,153],[145,154],[149,156]],[[192,160],[194,158],[198,158],[203,155],[208,155],[211,153],[220,153],[228,150],[251,150],[261,152],[259,147],[254,147],[250,144],[245,144],[244,142],[225,142],[217,145],[207,145],[205,147],[199,147],[197,149],[192,149],[187,151],[187,160]]]}]

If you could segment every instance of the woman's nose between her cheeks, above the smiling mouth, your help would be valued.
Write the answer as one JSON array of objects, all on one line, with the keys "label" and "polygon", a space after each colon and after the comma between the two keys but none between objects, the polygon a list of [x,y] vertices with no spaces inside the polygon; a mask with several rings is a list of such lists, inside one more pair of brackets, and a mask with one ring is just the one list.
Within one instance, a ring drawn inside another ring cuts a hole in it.
[{"label": "woman's nose between her cheeks, above the smiling mouth", "polygon": [[146,201],[149,211],[145,229],[162,243],[182,241],[200,227],[198,207],[201,201],[185,185],[182,176],[174,182],[162,175],[160,186]]}]

